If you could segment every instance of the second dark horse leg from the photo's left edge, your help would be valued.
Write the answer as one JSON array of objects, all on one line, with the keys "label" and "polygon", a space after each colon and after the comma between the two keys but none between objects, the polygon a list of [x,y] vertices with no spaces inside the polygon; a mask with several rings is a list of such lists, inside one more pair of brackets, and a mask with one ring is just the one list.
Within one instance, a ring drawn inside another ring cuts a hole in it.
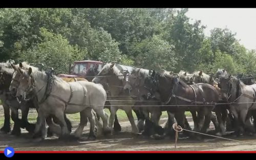
[{"label": "second dark horse leg from the photo's left edge", "polygon": [[11,134],[19,136],[21,134],[21,130],[20,130],[20,120],[18,118],[18,109],[11,108],[11,119],[14,122]]}]

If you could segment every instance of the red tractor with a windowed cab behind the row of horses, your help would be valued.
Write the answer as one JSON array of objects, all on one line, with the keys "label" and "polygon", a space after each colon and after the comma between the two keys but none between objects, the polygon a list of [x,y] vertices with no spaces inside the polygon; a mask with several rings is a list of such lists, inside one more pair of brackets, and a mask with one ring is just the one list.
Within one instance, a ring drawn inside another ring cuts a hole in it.
[{"label": "red tractor with a windowed cab behind the row of horses", "polygon": [[103,63],[93,60],[75,61],[70,75],[59,74],[58,77],[82,77],[92,81],[102,69]]}]

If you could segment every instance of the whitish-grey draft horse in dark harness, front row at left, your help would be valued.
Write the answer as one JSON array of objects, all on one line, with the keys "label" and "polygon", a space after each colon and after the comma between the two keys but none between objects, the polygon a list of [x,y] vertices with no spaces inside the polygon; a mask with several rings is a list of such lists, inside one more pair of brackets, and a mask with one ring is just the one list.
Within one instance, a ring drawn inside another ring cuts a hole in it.
[{"label": "whitish-grey draft horse in dark harness, front row at left", "polygon": [[60,123],[60,138],[65,138],[70,134],[64,120],[64,114],[82,112],[82,115],[85,116],[83,118],[80,117],[81,122],[75,131],[75,136],[81,136],[88,117],[91,124],[89,137],[95,137],[95,117],[92,109],[102,119],[103,130],[105,132],[110,131],[108,128],[108,115],[103,110],[106,93],[101,85],[87,81],[68,83],[45,72],[38,70],[32,72],[31,67],[28,72],[19,68],[19,72],[22,73],[22,76],[18,80],[19,86],[16,96],[20,99],[26,99],[26,95],[34,93],[38,98],[39,109],[35,133],[39,131],[45,118],[53,115]]}]

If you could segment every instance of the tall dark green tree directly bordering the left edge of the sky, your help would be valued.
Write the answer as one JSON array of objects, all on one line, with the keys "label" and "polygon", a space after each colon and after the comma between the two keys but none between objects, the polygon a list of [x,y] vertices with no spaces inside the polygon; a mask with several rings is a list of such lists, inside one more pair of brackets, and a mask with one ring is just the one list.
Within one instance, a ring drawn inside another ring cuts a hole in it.
[{"label": "tall dark green tree directly bordering the left edge of the sky", "polygon": [[193,72],[200,63],[200,49],[204,40],[204,26],[197,20],[194,24],[189,23],[185,15],[188,9],[181,9],[169,24],[167,40],[175,46],[178,64],[176,71],[186,70]]}]

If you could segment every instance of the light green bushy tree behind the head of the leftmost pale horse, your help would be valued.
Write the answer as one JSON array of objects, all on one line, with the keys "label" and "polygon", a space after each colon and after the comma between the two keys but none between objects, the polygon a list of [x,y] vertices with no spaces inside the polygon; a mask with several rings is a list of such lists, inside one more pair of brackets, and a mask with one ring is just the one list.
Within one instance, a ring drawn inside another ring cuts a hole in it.
[{"label": "light green bushy tree behind the head of the leftmost pale horse", "polygon": [[79,51],[76,46],[70,45],[69,41],[60,34],[54,34],[45,28],[41,28],[40,33],[43,41],[23,53],[20,60],[43,63],[46,67],[53,67],[56,74],[67,74],[70,64],[74,60],[83,59],[87,54],[85,50]]}]

